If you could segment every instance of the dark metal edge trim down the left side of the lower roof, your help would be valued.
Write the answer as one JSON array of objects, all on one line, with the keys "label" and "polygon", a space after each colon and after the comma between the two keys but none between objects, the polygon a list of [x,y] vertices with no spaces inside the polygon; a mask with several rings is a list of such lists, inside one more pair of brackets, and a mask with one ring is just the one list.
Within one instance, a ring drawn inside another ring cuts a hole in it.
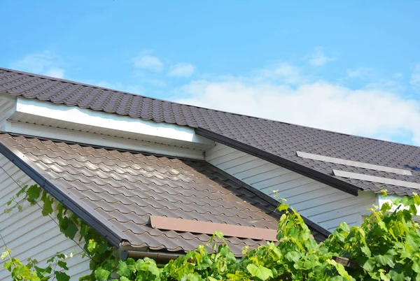
[{"label": "dark metal edge trim down the left side of the lower roof", "polygon": [[111,245],[120,247],[120,243],[125,239],[113,231],[111,229],[112,226],[109,227],[104,222],[101,222],[100,219],[94,217],[94,215],[83,208],[83,206],[80,206],[80,203],[76,202],[70,196],[65,194],[62,189],[52,184],[52,182],[41,175],[41,173],[38,173],[38,171],[36,171],[34,168],[29,166],[25,160],[22,160],[17,154],[15,154],[15,152],[6,147],[6,145],[3,145],[3,143],[0,143],[0,153],[12,161],[13,164],[18,166],[20,170],[26,173],[29,178],[34,180],[34,182],[45,189],[45,191],[48,192],[52,197],[62,203],[66,208],[71,210],[71,212],[82,219],[87,225],[92,227],[92,229],[97,231],[101,236],[104,236],[104,238],[108,240]]}]

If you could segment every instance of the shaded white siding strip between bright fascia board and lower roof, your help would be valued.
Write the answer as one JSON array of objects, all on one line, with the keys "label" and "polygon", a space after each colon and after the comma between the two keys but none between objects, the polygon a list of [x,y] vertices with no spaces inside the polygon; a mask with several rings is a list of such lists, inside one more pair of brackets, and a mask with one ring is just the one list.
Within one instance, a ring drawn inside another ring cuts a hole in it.
[{"label": "shaded white siding strip between bright fascia board and lower roof", "polygon": [[22,134],[27,136],[37,136],[40,138],[52,138],[74,143],[85,143],[87,145],[113,147],[122,150],[135,150],[148,154],[162,154],[172,157],[183,157],[190,159],[204,160],[204,153],[199,150],[191,150],[183,147],[161,145],[146,141],[137,141],[127,138],[114,136],[104,136],[101,134],[73,131],[69,129],[59,129],[45,127],[41,125],[26,124],[20,122],[6,121],[6,131],[9,133]]}]

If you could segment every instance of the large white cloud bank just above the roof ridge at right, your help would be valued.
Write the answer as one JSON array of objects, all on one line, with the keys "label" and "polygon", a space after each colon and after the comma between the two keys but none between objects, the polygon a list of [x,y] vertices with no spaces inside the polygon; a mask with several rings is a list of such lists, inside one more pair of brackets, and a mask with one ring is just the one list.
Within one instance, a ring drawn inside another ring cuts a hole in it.
[{"label": "large white cloud bank just above the roof ridge at right", "polygon": [[[317,127],[346,134],[388,138],[420,145],[420,104],[384,89],[351,89],[328,81],[278,82],[270,77],[296,77],[266,69],[265,77],[193,80],[178,92],[180,103]],[[290,71],[293,70],[293,71]],[[272,75],[268,75],[268,72]],[[261,71],[260,71],[261,72]],[[407,139],[407,136],[411,139]]]}]

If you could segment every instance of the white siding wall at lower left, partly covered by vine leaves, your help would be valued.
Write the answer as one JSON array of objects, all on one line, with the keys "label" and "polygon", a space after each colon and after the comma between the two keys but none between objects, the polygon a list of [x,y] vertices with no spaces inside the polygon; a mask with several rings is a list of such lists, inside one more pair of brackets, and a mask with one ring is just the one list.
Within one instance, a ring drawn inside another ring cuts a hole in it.
[{"label": "white siding wall at lower left, partly covered by vine leaves", "polygon": [[[8,208],[6,202],[20,190],[20,186],[32,185],[34,182],[1,154],[0,166],[0,233],[7,247],[13,251],[13,257],[21,261],[26,261],[29,257],[37,259],[42,267],[57,252],[73,252],[73,258],[67,260],[71,280],[78,280],[89,274],[89,260],[82,259],[80,247],[59,231],[55,221],[50,217],[43,217],[39,206],[29,206],[25,202],[22,212],[4,212]],[[3,240],[0,240],[1,250],[3,244]],[[2,266],[3,261],[0,261],[0,280],[10,280],[10,273]]]}]

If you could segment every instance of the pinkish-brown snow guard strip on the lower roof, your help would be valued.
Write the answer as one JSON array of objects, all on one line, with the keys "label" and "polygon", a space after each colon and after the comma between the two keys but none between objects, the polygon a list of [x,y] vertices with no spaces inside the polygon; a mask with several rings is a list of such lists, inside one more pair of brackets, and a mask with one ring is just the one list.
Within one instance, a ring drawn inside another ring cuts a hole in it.
[{"label": "pinkish-brown snow guard strip on the lower roof", "polygon": [[204,233],[210,235],[216,231],[220,231],[225,237],[277,241],[277,229],[261,229],[259,227],[217,224],[215,222],[200,222],[193,219],[158,217],[154,215],[151,216],[150,223],[154,229],[161,230],[163,229],[190,233]]}]

